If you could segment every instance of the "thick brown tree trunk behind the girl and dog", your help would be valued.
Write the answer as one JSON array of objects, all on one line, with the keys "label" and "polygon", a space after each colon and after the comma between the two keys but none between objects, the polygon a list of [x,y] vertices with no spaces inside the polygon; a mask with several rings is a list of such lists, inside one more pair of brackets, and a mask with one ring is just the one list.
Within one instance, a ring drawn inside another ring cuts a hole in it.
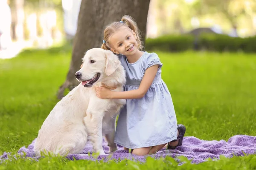
[{"label": "thick brown tree trunk behind the girl and dog", "polygon": [[66,81],[59,88],[58,99],[66,88],[72,90],[79,85],[75,73],[80,69],[84,53],[101,47],[105,26],[121,20],[127,14],[134,18],[145,40],[148,7],[150,0],[82,0],[76,35],[73,42],[72,60]]}]

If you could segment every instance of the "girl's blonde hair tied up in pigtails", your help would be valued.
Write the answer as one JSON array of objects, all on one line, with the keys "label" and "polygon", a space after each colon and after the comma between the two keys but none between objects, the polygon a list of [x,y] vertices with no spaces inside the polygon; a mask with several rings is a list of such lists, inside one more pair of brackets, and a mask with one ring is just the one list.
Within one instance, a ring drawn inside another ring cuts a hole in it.
[{"label": "girl's blonde hair tied up in pigtails", "polygon": [[134,19],[129,15],[124,15],[119,22],[113,22],[110,25],[108,25],[104,30],[104,38],[103,38],[103,44],[101,46],[102,49],[110,50],[110,44],[109,44],[109,38],[113,33],[115,33],[117,30],[119,30],[122,26],[126,26],[127,28],[130,28],[134,31],[136,34],[136,41],[138,43],[138,49],[143,48],[143,42],[140,40],[140,30],[137,26],[137,23],[134,21]]}]

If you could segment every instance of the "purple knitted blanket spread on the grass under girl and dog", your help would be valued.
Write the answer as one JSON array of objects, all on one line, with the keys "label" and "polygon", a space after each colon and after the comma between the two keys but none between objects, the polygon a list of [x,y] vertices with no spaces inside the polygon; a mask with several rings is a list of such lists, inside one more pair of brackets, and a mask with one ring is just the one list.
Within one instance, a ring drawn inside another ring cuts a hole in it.
[{"label": "purple knitted blanket spread on the grass under girl and dog", "polygon": [[[35,140],[26,147],[21,147],[18,153],[23,154],[26,153],[27,157],[34,157],[34,148]],[[105,140],[103,140],[103,149],[105,152],[108,152],[108,146]],[[75,158],[78,159],[89,159],[95,161],[96,159],[93,156],[88,156],[88,152],[91,154],[92,146],[88,142],[86,147],[84,147],[83,153],[81,154],[70,154],[67,156],[67,159],[73,160]],[[177,147],[176,150],[166,150],[162,149],[158,151],[156,154],[151,155],[155,159],[159,159],[160,157],[171,156],[175,158],[176,156],[185,156],[188,159],[192,159],[192,163],[201,163],[206,161],[205,159],[219,159],[220,155],[224,155],[228,158],[233,156],[244,156],[248,154],[256,154],[256,136],[245,136],[245,135],[236,135],[231,137],[227,142],[224,140],[220,141],[205,141],[193,136],[184,137],[183,145]],[[98,160],[104,159],[104,161],[108,161],[109,159],[123,160],[123,159],[133,159],[135,161],[145,162],[146,156],[136,156],[131,153],[128,153],[127,150],[122,150],[121,146],[118,146],[118,150],[110,155],[100,155],[98,156]],[[8,153],[4,153],[3,156],[0,156],[1,159],[7,159]],[[37,159],[38,157],[34,157]]]}]

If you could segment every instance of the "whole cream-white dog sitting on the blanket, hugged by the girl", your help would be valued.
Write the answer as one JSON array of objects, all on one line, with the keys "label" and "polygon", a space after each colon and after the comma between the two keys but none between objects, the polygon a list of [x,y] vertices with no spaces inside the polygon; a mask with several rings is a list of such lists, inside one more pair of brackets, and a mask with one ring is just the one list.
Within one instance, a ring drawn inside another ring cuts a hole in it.
[{"label": "whole cream-white dog sitting on the blanket, hugged by the girl", "polygon": [[75,75],[81,83],[55,105],[39,130],[34,148],[37,156],[40,152],[62,156],[81,153],[87,139],[92,142],[94,151],[105,154],[104,135],[110,152],[117,149],[115,122],[125,100],[100,99],[95,86],[104,83],[108,88],[116,87],[114,91],[123,91],[125,70],[118,57],[101,48],[90,49]]}]

